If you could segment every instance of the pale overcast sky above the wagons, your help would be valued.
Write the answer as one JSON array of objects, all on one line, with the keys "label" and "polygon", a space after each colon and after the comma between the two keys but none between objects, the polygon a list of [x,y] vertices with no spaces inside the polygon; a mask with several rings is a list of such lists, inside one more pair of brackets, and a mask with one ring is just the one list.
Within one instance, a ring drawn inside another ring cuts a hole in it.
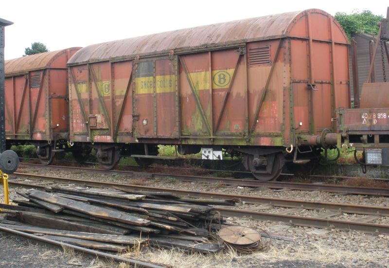
[{"label": "pale overcast sky above the wagons", "polygon": [[383,0],[2,0],[0,18],[14,22],[5,30],[5,59],[11,59],[33,42],[54,51],[308,8],[332,15],[368,9],[386,17],[387,6]]}]

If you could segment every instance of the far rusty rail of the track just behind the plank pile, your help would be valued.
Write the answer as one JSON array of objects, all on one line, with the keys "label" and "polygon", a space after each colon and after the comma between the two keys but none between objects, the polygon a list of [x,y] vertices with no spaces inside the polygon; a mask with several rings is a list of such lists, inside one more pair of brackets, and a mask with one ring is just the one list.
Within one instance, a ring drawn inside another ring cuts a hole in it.
[{"label": "far rusty rail of the track just behind the plank pile", "polygon": [[[60,183],[64,183],[64,182],[65,183],[74,183],[74,184],[85,185],[85,186],[89,186],[89,187],[116,186],[116,187],[143,190],[143,191],[150,191],[150,190],[156,191],[157,190],[159,192],[170,192],[170,193],[174,193],[177,195],[188,196],[188,197],[214,198],[214,199],[234,199],[234,198],[237,198],[237,199],[240,199],[242,202],[246,202],[249,204],[270,204],[270,205],[276,206],[276,207],[330,210],[330,211],[339,211],[339,212],[343,212],[343,213],[352,213],[352,214],[389,216],[389,207],[376,207],[376,206],[355,205],[355,204],[303,201],[303,200],[293,200],[293,199],[274,198],[274,197],[232,195],[232,194],[198,192],[198,191],[189,191],[189,190],[175,190],[175,189],[170,189],[170,188],[159,188],[159,187],[153,187],[153,186],[140,186],[140,185],[132,185],[132,184],[101,182],[101,181],[82,180],[82,179],[67,179],[67,178],[35,175],[35,174],[23,174],[23,175],[18,175],[18,176],[26,177],[29,179],[53,180],[55,182],[60,182]],[[30,184],[30,183],[18,182],[18,181],[13,181],[12,179],[9,179],[8,183],[10,185],[38,187],[38,188],[46,188],[49,186],[47,184],[35,185],[35,184]]]}]

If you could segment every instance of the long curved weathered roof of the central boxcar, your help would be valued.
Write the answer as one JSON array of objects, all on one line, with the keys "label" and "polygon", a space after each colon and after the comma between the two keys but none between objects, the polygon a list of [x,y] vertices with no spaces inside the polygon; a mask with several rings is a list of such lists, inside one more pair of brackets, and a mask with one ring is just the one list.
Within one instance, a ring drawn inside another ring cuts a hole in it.
[{"label": "long curved weathered roof of the central boxcar", "polygon": [[224,23],[181,29],[148,36],[127,38],[87,46],[68,64],[102,61],[110,58],[156,54],[185,48],[228,45],[237,41],[270,39],[283,36],[301,11],[248,18]]}]

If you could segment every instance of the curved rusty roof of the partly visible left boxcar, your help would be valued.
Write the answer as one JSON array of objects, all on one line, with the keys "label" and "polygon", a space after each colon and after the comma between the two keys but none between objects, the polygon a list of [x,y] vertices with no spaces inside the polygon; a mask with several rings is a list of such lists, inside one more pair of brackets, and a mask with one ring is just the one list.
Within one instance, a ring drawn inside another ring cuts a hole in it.
[{"label": "curved rusty roof of the partly visible left boxcar", "polygon": [[[4,73],[5,76],[9,76],[17,73],[25,73],[28,71],[40,70],[50,68],[56,58],[65,54],[67,51],[79,50],[80,48],[69,48],[57,51],[44,52],[29,56],[24,56],[16,59],[10,59],[4,61]],[[71,55],[69,55],[70,57]],[[55,66],[56,68],[66,68],[66,60],[63,66]]]}]

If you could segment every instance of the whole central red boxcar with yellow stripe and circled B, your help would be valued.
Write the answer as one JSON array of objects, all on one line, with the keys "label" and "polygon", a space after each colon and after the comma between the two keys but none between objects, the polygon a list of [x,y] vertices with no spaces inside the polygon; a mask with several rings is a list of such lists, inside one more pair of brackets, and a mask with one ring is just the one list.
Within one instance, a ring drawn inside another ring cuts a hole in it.
[{"label": "whole central red boxcar with yellow stripe and circled B", "polygon": [[68,66],[71,143],[105,168],[176,144],[274,179],[336,144],[335,109],[350,107],[347,37],[317,9],[91,45]]}]

